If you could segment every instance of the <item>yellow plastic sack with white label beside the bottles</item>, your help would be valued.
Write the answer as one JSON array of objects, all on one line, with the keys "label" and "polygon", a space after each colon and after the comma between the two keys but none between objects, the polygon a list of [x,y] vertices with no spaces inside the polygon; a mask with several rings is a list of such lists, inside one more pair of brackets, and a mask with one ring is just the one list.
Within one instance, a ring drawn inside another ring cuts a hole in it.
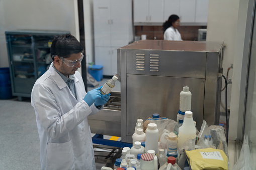
[{"label": "yellow plastic sack with white label beside the bottles", "polygon": [[214,148],[184,150],[192,170],[228,169],[228,159],[223,150]]}]

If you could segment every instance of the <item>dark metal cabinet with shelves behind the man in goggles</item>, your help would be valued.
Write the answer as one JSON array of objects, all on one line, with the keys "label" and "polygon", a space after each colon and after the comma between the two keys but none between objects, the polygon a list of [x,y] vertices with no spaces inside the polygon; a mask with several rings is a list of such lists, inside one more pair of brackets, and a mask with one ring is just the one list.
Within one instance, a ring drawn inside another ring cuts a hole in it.
[{"label": "dark metal cabinet with shelves behind the man in goggles", "polygon": [[36,80],[51,62],[50,46],[55,35],[69,32],[7,31],[6,42],[13,96],[30,97]]}]

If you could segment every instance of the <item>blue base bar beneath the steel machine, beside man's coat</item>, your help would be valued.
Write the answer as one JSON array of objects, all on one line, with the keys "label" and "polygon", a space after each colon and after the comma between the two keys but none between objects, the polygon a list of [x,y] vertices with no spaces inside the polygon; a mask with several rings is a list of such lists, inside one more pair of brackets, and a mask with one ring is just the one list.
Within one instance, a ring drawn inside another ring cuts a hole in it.
[{"label": "blue base bar beneath the steel machine, beside man's coat", "polygon": [[103,144],[107,146],[115,146],[115,147],[132,147],[132,143],[125,143],[122,141],[108,140],[104,139],[102,134],[95,134],[92,137],[93,143],[95,144]]}]

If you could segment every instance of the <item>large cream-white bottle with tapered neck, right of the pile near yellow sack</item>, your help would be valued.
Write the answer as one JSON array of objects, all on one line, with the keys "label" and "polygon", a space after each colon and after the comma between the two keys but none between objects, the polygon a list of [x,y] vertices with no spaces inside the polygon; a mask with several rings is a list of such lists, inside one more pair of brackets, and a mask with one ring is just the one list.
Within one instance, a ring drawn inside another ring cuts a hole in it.
[{"label": "large cream-white bottle with tapered neck, right of the pile near yellow sack", "polygon": [[197,130],[193,120],[193,113],[191,111],[186,111],[183,125],[179,128],[178,148],[181,148],[184,142],[191,138],[194,141],[193,149],[195,149],[196,133]]}]

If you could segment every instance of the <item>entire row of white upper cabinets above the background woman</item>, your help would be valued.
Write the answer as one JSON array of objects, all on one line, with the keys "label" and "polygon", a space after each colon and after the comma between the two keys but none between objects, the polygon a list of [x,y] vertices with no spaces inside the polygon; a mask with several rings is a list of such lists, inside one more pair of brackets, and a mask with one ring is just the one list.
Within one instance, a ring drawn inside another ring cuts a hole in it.
[{"label": "entire row of white upper cabinets above the background woman", "polygon": [[134,25],[160,26],[175,14],[181,25],[206,26],[208,4],[209,0],[134,0]]}]

